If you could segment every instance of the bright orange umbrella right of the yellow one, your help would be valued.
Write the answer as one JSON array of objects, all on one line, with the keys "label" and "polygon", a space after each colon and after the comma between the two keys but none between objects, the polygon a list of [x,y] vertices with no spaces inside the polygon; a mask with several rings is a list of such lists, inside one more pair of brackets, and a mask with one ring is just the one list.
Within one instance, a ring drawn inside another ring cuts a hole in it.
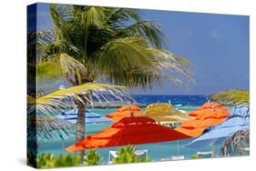
[{"label": "bright orange umbrella right of the yellow one", "polygon": [[207,127],[219,125],[229,115],[226,107],[218,103],[206,103],[189,114],[189,116],[195,116],[195,119],[183,121],[175,130],[188,136],[200,136]]}]

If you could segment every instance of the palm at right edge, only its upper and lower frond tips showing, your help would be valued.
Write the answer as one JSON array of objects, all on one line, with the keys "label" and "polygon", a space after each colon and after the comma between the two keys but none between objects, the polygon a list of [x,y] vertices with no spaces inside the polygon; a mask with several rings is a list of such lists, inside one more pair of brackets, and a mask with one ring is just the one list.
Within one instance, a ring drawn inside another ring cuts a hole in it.
[{"label": "palm at right edge, only its upper and lower frond tips showing", "polygon": [[[210,98],[225,106],[250,106],[249,92],[241,89],[223,91],[211,95]],[[244,148],[249,146],[249,139],[249,129],[237,131],[224,141],[220,148],[220,156],[241,156],[247,154]]]}]

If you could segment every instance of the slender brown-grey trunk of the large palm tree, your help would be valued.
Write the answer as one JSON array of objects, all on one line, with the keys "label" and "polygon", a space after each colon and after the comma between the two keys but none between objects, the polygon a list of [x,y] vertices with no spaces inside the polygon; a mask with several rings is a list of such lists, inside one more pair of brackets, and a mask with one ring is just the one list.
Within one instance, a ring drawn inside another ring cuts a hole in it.
[{"label": "slender brown-grey trunk of the large palm tree", "polygon": [[[86,104],[81,101],[77,101],[77,131],[76,131],[76,142],[81,141],[85,138],[86,126]],[[81,160],[83,161],[85,156],[85,151],[77,151],[77,155],[81,156]]]}]

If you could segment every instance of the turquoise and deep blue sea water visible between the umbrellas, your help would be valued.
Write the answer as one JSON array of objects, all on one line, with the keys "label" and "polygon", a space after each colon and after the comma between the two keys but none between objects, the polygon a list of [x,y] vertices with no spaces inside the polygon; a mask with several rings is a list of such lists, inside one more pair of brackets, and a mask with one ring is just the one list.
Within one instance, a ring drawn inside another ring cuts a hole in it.
[{"label": "turquoise and deep blue sea water visible between the umbrellas", "polygon": [[[190,112],[195,110],[198,106],[201,106],[208,101],[207,96],[133,96],[134,99],[141,104],[151,104],[157,102],[169,102],[179,110],[185,110]],[[101,116],[106,116],[109,113],[116,111],[118,108],[105,108],[90,109]],[[107,128],[112,123],[108,124],[87,124],[86,135],[97,133],[98,131]],[[153,144],[145,144],[136,146],[137,149],[148,149],[148,157],[151,161],[160,161],[170,158],[171,156],[185,156],[185,159],[190,159],[198,151],[209,151],[210,146],[201,148],[189,148],[185,145],[188,144],[192,138],[186,140],[161,142]],[[52,139],[50,141],[44,140],[38,146],[38,154],[41,153],[54,153],[56,155],[68,153],[65,151],[67,146],[71,146],[75,143],[75,137],[67,138],[65,140]],[[117,147],[98,148],[97,152],[103,157],[101,164],[108,164],[108,156],[110,150],[118,150]],[[214,153],[219,154],[220,146],[214,147]]]}]

